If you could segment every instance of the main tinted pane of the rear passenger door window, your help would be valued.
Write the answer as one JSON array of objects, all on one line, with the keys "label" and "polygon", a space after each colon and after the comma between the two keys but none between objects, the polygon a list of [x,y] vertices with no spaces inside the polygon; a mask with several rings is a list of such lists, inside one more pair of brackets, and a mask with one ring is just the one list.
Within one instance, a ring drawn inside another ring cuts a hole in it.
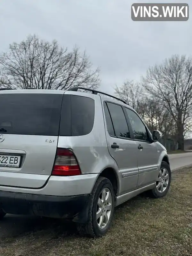
[{"label": "main tinted pane of the rear passenger door window", "polygon": [[115,129],[115,135],[118,137],[130,138],[129,129],[122,107],[113,103],[107,103],[107,105]]}]

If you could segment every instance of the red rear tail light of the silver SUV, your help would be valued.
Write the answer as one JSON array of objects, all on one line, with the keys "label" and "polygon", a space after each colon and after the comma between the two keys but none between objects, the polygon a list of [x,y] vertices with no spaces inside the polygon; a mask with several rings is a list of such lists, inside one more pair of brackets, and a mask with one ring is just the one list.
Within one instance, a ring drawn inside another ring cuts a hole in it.
[{"label": "red rear tail light of the silver SUV", "polygon": [[56,160],[53,166],[52,175],[73,176],[80,174],[81,170],[73,152],[69,149],[57,148]]}]

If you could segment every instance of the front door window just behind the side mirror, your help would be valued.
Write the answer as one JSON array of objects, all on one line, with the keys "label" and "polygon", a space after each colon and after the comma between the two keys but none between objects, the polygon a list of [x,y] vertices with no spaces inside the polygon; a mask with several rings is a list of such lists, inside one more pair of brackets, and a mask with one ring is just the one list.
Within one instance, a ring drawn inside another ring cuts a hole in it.
[{"label": "front door window just behind the side mirror", "polygon": [[139,116],[135,114],[131,109],[125,109],[131,122],[134,138],[136,140],[148,140],[148,134],[145,125],[143,124]]}]

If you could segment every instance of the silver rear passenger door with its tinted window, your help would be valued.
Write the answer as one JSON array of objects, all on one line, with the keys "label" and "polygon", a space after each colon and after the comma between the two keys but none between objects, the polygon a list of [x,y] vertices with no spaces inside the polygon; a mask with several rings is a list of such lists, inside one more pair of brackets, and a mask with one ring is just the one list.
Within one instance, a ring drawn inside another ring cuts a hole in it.
[{"label": "silver rear passenger door with its tinted window", "polygon": [[106,101],[103,104],[108,150],[121,172],[120,194],[122,195],[137,187],[139,173],[137,167],[137,142],[131,139],[122,106]]}]

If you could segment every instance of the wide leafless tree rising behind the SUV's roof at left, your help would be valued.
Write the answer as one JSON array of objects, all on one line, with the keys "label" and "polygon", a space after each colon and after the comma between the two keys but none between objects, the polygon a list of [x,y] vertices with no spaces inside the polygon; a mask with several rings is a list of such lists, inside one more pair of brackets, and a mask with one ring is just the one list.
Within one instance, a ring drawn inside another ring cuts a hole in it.
[{"label": "wide leafless tree rising behind the SUV's roof at left", "polygon": [[99,69],[92,64],[85,52],[81,54],[28,36],[20,44],[13,43],[9,51],[0,56],[1,84],[21,89],[59,89],[72,86],[97,88],[100,84]]}]

